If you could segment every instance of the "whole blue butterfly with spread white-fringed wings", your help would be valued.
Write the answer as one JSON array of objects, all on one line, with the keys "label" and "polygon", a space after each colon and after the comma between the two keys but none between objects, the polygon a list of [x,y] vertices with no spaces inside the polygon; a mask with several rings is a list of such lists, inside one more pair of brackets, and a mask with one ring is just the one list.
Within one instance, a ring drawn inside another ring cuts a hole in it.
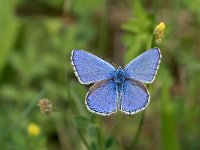
[{"label": "whole blue butterfly with spread white-fringed wings", "polygon": [[144,110],[150,94],[143,83],[154,81],[161,57],[159,48],[152,48],[124,68],[115,68],[91,53],[73,50],[71,63],[79,82],[95,83],[85,98],[88,110],[103,116],[116,111],[132,115]]}]

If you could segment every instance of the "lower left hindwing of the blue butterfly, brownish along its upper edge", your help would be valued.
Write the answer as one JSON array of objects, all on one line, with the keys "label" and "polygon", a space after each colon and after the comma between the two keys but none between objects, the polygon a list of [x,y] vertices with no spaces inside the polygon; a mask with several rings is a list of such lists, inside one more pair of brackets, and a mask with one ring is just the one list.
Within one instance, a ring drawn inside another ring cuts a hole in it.
[{"label": "lower left hindwing of the blue butterfly, brownish along its upper edge", "polygon": [[113,80],[104,80],[94,84],[86,95],[89,111],[107,116],[116,111],[116,87]]}]

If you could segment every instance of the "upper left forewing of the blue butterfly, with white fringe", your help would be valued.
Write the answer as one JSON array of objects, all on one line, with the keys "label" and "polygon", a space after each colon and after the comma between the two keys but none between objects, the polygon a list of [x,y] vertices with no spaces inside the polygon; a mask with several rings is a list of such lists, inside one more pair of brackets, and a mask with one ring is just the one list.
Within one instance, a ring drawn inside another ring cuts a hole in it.
[{"label": "upper left forewing of the blue butterfly, with white fringe", "polygon": [[97,56],[84,50],[72,51],[72,65],[82,84],[95,83],[113,78],[115,68]]}]

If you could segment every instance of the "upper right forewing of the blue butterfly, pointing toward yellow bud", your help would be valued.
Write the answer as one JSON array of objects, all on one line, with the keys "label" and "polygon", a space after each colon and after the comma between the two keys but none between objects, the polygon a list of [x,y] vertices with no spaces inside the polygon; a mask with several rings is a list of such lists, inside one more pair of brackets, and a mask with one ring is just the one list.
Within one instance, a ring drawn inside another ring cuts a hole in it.
[{"label": "upper right forewing of the blue butterfly, pointing toward yellow bud", "polygon": [[152,48],[136,57],[125,67],[127,78],[144,83],[152,83],[159,68],[161,53],[159,48]]}]

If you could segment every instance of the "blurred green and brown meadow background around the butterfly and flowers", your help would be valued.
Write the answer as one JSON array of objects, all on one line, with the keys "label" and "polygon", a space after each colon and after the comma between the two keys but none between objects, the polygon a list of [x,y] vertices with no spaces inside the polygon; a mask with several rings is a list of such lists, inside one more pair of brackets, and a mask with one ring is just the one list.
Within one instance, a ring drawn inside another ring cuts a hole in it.
[{"label": "blurred green and brown meadow background around the butterfly and flowers", "polygon": [[[4,150],[200,149],[199,0],[0,0],[0,147]],[[154,28],[165,22],[161,44]],[[125,65],[163,58],[144,113],[90,113],[70,56],[85,49]],[[51,115],[40,113],[48,98]],[[144,119],[142,119],[144,117]],[[31,123],[40,132],[27,131]]]}]

